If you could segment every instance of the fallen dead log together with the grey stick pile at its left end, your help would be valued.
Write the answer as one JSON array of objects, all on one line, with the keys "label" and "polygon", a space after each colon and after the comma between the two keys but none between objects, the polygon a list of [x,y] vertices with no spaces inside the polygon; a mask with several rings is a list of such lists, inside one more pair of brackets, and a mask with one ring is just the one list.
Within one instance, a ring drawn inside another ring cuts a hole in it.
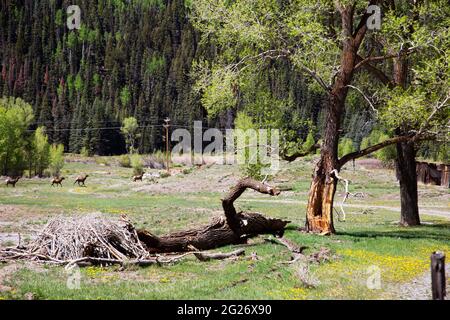
[{"label": "fallen dead log together with the grey stick pile at its left end", "polygon": [[[230,244],[245,243],[259,234],[281,236],[289,221],[266,218],[260,213],[237,212],[234,201],[247,189],[272,196],[276,188],[246,178],[240,180],[222,200],[224,217],[209,225],[164,236],[155,236],[147,230],[137,230],[126,217],[112,221],[100,216],[57,218],[51,220],[27,247],[0,250],[0,261],[27,259],[63,265],[173,263],[194,254],[199,260],[226,259],[244,254],[205,253]],[[161,253],[181,255],[160,255]]]}]

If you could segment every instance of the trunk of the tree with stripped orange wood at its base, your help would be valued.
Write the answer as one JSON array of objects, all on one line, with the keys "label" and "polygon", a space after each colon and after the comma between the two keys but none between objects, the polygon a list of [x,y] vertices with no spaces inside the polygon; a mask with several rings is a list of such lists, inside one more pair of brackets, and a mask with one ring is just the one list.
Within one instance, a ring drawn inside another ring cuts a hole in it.
[{"label": "trunk of the tree with stripped orange wood at its base", "polygon": [[357,63],[358,49],[367,30],[367,17],[363,17],[353,32],[354,7],[352,5],[339,6],[338,9],[341,14],[343,27],[340,68],[336,80],[328,92],[324,139],[320,160],[314,169],[306,212],[306,230],[321,234],[335,232],[333,225],[333,200],[336,193],[337,179],[331,172],[335,169],[340,170],[338,142],[341,116],[345,109],[348,85],[352,81]]}]

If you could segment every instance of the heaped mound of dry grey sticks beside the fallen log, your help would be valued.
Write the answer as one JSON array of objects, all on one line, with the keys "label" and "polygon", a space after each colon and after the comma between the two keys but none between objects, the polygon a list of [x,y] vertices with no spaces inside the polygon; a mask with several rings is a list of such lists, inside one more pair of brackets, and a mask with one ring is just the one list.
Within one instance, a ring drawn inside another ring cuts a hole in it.
[{"label": "heaped mound of dry grey sticks beside the fallen log", "polygon": [[46,260],[55,263],[88,260],[112,262],[147,259],[150,254],[125,217],[118,221],[99,215],[51,220],[27,246],[0,252],[1,258]]}]

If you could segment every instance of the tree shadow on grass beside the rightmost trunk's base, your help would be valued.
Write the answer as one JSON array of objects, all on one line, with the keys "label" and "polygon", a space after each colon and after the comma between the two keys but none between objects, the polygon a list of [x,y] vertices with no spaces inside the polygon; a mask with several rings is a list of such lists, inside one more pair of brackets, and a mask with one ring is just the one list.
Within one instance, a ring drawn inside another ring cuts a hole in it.
[{"label": "tree shadow on grass beside the rightmost trunk's base", "polygon": [[450,241],[450,223],[422,225],[418,227],[398,227],[397,230],[386,231],[337,231],[336,235],[356,238],[390,237],[401,239],[430,239]]}]

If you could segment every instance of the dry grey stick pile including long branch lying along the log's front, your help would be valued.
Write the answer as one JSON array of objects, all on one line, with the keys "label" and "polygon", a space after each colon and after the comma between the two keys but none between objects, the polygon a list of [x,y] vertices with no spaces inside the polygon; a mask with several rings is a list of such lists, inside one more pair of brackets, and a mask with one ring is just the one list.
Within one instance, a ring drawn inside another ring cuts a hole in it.
[{"label": "dry grey stick pile including long branch lying along the log's front", "polygon": [[200,261],[234,258],[229,253],[191,251],[181,255],[151,255],[126,216],[111,220],[100,215],[52,219],[28,246],[0,250],[0,261],[31,260],[58,265],[151,265],[173,263],[193,254]]}]

